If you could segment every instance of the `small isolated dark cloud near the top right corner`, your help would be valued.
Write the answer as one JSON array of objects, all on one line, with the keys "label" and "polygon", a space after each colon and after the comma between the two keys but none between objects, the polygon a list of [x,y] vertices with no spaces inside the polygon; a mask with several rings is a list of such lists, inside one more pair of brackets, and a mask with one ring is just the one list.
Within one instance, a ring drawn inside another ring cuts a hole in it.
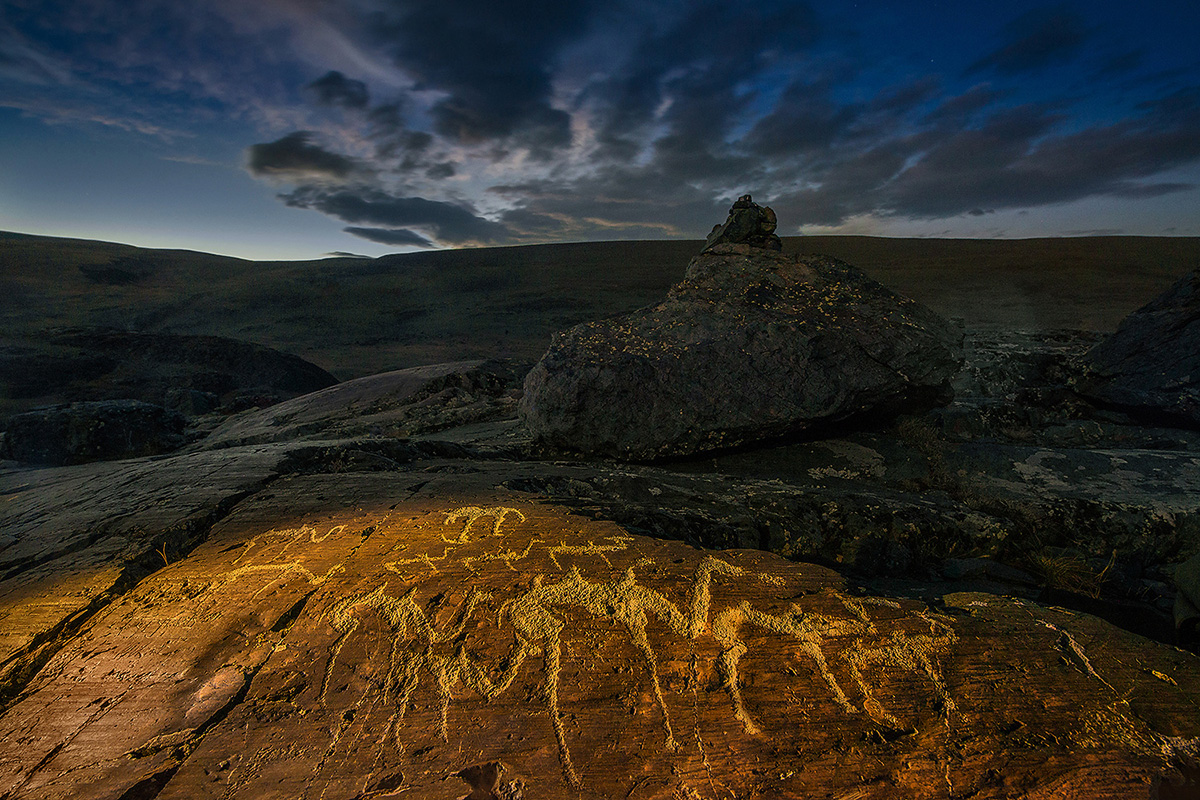
[{"label": "small isolated dark cloud near the top right corner", "polygon": [[994,70],[1016,74],[1040,70],[1074,56],[1090,31],[1084,18],[1069,6],[1027,11],[1004,28],[1008,42],[989,53],[967,72]]}]

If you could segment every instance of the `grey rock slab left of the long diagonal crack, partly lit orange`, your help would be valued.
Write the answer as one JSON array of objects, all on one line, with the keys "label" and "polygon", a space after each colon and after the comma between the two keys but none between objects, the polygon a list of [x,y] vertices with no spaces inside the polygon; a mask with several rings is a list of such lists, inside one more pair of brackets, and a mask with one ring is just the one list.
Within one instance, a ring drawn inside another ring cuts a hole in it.
[{"label": "grey rock slab left of the long diagonal crack, partly lit orange", "polygon": [[0,471],[0,705],[65,637],[179,560],[283,449]]}]

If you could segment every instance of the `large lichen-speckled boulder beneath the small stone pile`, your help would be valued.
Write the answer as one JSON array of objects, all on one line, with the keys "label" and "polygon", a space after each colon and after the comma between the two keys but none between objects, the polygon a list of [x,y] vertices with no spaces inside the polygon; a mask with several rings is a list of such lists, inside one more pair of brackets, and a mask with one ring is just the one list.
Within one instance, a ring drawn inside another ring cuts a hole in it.
[{"label": "large lichen-speckled boulder beneath the small stone pile", "polygon": [[716,245],[660,305],[558,333],[521,419],[557,447],[685,456],[946,402],[960,341],[836,259]]}]

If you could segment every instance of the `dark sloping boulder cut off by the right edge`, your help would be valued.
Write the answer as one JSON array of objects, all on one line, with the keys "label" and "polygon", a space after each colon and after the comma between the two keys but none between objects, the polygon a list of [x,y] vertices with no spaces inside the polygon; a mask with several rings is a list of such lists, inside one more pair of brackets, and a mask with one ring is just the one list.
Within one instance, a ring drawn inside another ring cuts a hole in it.
[{"label": "dark sloping boulder cut off by the right edge", "polygon": [[1200,427],[1200,271],[1126,317],[1085,362],[1093,399]]}]

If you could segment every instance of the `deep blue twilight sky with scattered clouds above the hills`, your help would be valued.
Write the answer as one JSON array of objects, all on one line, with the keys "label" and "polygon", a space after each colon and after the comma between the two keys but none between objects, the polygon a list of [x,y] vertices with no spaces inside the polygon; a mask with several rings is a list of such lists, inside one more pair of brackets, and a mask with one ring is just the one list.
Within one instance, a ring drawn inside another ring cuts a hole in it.
[{"label": "deep blue twilight sky with scattered clouds above the hills", "polygon": [[1194,0],[0,0],[0,229],[1200,235]]}]

